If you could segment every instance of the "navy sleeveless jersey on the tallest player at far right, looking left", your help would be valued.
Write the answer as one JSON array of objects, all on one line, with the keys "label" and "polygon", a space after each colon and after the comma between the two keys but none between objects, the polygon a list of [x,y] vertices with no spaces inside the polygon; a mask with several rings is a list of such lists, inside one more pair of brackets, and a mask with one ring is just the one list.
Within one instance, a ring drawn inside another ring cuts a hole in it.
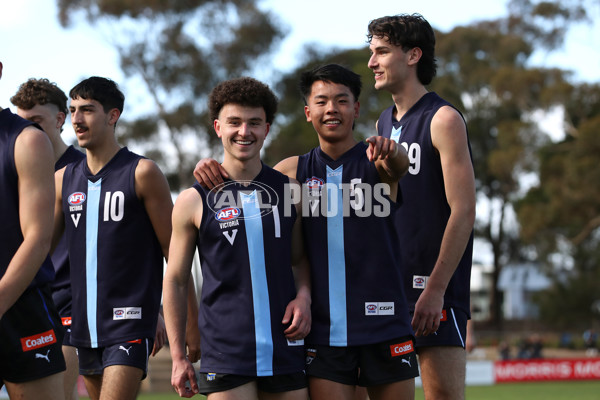
[{"label": "navy sleeveless jersey on the tallest player at far right, looking left", "polygon": [[[377,123],[381,136],[401,143],[408,152],[410,167],[400,179],[404,203],[396,216],[406,295],[411,310],[423,291],[437,261],[442,237],[450,218],[442,165],[431,142],[431,120],[450,103],[434,92],[425,94],[400,121],[395,106],[381,113]],[[469,153],[471,148],[469,146]],[[473,234],[444,295],[444,307],[457,307],[470,315],[470,280]]]}]

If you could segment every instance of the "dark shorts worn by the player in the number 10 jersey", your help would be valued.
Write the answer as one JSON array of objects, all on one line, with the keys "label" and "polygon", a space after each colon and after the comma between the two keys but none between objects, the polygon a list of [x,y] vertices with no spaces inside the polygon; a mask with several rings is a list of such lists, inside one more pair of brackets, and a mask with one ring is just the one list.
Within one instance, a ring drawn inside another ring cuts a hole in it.
[{"label": "dark shorts worn by the player in the number 10 jersey", "polygon": [[77,347],[79,355],[79,373],[81,375],[102,375],[104,368],[111,365],[127,365],[148,373],[148,358],[152,352],[154,340],[150,338],[130,340],[106,347]]}]

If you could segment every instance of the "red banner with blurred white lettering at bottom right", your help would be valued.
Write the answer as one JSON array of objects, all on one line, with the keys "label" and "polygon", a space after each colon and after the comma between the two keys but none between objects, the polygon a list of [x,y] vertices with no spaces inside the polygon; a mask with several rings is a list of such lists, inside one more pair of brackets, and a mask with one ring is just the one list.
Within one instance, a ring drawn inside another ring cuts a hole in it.
[{"label": "red banner with blurred white lettering at bottom right", "polygon": [[500,382],[600,379],[600,358],[497,361],[494,378]]}]

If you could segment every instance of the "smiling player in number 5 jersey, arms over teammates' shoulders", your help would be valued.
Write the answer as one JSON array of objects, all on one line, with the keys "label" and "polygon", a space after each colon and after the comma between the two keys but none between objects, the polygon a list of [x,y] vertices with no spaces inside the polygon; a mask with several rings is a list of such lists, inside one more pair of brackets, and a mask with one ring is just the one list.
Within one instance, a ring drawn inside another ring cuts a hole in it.
[{"label": "smiling player in number 5 jersey, arms over teammates' shoulders", "polygon": [[[383,137],[366,144],[354,138],[359,75],[335,64],[317,67],[302,74],[300,90],[320,145],[275,168],[308,188],[302,223],[312,281],[310,397],[353,399],[360,385],[373,400],[412,399],[418,369],[393,218],[406,152]],[[195,175],[213,185],[225,172],[203,160]]]}]

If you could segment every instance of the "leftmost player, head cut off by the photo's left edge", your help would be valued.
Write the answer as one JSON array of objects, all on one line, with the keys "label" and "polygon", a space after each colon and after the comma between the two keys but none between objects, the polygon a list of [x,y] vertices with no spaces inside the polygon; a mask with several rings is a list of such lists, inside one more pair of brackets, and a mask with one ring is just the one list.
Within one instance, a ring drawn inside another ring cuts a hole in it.
[{"label": "leftmost player, head cut off by the photo's left edge", "polygon": [[0,387],[63,400],[63,330],[48,287],[54,161],[38,128],[0,108]]}]

